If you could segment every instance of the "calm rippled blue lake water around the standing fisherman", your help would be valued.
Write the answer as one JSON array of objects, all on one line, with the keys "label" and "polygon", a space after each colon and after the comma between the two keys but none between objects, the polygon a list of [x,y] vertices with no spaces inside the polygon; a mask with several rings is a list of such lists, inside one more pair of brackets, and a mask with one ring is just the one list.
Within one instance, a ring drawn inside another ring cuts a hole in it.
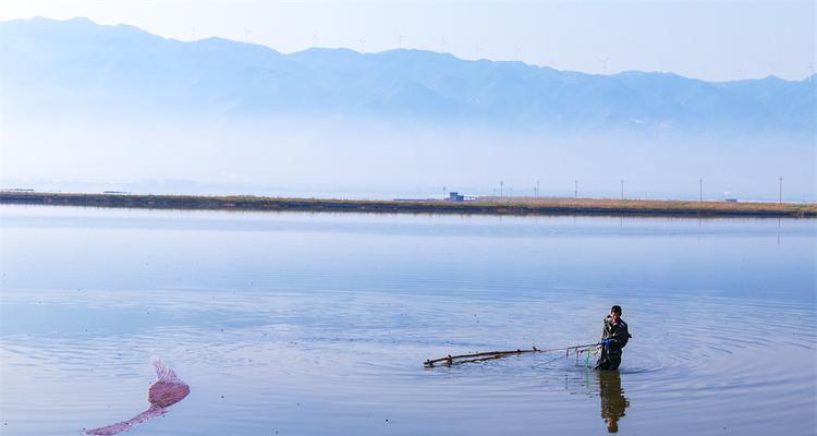
[{"label": "calm rippled blue lake water around the standing fisherman", "polygon": [[[814,435],[815,220],[0,207],[2,435]],[[633,339],[620,373],[560,353]]]}]

